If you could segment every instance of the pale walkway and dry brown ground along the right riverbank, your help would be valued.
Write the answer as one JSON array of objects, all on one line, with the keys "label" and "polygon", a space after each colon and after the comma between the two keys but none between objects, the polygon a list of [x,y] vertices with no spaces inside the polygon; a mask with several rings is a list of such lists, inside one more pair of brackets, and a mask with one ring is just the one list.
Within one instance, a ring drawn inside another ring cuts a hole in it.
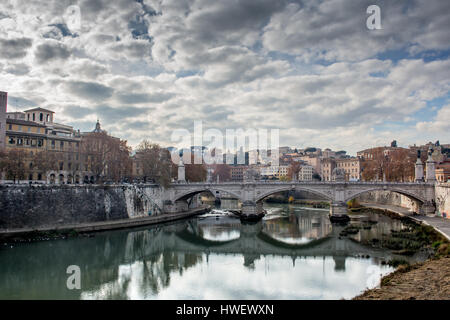
[{"label": "pale walkway and dry brown ground along the right riverbank", "polygon": [[[353,300],[450,300],[450,243],[446,232],[423,220],[422,216],[412,216],[405,208],[394,206],[363,204],[363,208],[383,210],[390,216],[408,219],[427,231],[435,251],[433,258],[413,265],[400,265],[396,271],[381,279],[380,287],[366,290]],[[443,219],[443,221],[446,219]],[[448,223],[448,222],[445,222]],[[434,232],[434,234],[433,234]]]}]

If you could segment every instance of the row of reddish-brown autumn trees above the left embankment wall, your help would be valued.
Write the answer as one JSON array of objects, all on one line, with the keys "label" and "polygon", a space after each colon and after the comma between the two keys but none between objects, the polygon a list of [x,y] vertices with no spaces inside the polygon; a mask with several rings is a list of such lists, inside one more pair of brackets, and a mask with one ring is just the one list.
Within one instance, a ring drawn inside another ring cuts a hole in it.
[{"label": "row of reddish-brown autumn trees above the left embankment wall", "polygon": [[[5,179],[14,182],[28,180],[30,174],[34,177],[39,174],[41,180],[46,180],[47,173],[51,171],[65,171],[68,183],[75,183],[77,175],[83,182],[83,175],[88,173],[95,177],[96,183],[143,181],[167,187],[172,180],[177,179],[177,169],[169,151],[159,144],[143,140],[133,154],[126,140],[112,137],[106,132],[92,132],[83,136],[77,150],[0,150],[0,173]],[[186,164],[185,171],[188,181],[206,180],[204,164]]]}]

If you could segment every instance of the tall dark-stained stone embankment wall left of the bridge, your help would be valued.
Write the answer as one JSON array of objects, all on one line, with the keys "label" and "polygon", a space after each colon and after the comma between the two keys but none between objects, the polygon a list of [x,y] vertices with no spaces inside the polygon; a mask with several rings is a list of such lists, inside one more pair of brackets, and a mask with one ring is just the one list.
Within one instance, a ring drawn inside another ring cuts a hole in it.
[{"label": "tall dark-stained stone embankment wall left of the bridge", "polygon": [[161,189],[127,186],[0,185],[0,230],[161,214]]}]

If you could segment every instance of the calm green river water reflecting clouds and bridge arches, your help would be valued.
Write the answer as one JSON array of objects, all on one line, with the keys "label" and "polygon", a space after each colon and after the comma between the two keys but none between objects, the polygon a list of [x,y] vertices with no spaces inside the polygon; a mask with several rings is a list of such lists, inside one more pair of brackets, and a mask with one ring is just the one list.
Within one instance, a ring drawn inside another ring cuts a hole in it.
[{"label": "calm green river water reflecting clouds and bridge arches", "polygon": [[[265,204],[261,222],[241,225],[224,210],[235,205],[167,225],[1,244],[0,299],[349,299],[393,271],[384,261],[397,256],[366,243],[404,228],[398,220],[364,214],[352,223],[366,228],[340,237],[328,210]],[[73,265],[79,290],[67,288]]]}]

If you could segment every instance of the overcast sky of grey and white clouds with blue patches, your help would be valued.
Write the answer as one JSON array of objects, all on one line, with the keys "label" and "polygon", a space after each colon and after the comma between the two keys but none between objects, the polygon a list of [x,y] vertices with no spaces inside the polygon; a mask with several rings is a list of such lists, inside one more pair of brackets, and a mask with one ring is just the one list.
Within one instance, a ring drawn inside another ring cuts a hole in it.
[{"label": "overcast sky of grey and white clouds with blue patches", "polygon": [[450,143],[449,30],[445,0],[2,0],[0,91],[133,146],[200,119],[350,153]]}]

